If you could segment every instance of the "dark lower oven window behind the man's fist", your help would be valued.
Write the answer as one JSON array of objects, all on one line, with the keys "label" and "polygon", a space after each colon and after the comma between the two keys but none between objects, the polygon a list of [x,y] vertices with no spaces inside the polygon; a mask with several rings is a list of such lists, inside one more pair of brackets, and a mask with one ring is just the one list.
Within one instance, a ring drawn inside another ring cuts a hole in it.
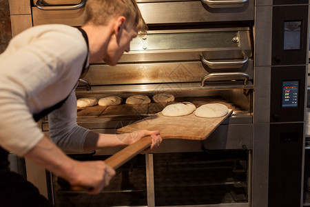
[{"label": "dark lower oven window behind the man's fist", "polygon": [[[80,157],[81,158],[81,157]],[[85,160],[105,160],[93,156]],[[82,158],[83,159],[83,158]],[[70,190],[68,183],[52,175],[55,206],[147,206],[145,155],[137,155],[116,170],[110,185],[98,195]]]}]

